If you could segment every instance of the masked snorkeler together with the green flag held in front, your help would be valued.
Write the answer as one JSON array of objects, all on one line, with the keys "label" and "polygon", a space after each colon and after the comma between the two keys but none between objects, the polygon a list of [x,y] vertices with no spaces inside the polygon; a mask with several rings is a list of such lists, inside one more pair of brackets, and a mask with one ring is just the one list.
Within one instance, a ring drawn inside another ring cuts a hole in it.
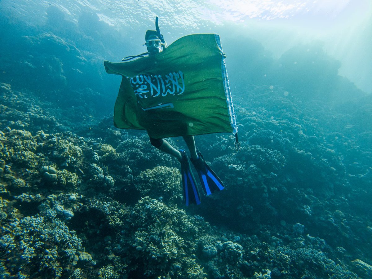
[{"label": "masked snorkeler together with the green flag held in front", "polygon": [[[114,125],[146,130],[151,144],[181,163],[186,205],[200,204],[194,165],[206,195],[224,189],[195,146],[194,135],[232,132],[240,149],[225,57],[218,34],[192,34],[167,46],[155,21],[147,30],[147,52],[105,61],[108,74],[122,76],[114,108]],[[138,58],[133,61],[133,58]],[[177,150],[164,138],[182,136],[190,151]]]}]

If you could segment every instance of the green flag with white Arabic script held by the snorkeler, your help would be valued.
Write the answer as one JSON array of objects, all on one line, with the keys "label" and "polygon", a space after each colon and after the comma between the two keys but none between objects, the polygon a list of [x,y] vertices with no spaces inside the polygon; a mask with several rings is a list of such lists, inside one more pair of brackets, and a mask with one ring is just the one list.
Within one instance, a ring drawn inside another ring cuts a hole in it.
[{"label": "green flag with white Arabic script held by the snorkeler", "polygon": [[184,36],[134,61],[105,61],[121,75],[114,125],[151,138],[237,132],[219,35]]}]

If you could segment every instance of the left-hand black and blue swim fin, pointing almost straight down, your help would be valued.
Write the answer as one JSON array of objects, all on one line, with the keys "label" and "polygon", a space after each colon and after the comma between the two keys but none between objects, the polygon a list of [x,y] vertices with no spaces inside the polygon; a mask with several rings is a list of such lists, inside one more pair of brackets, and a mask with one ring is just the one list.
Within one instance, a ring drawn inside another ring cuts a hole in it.
[{"label": "left-hand black and blue swim fin, pointing almost straight down", "polygon": [[187,156],[185,150],[181,149],[180,152],[182,154],[181,174],[183,198],[185,199],[187,206],[191,203],[199,205],[201,203],[199,188],[191,171],[189,157]]}]

